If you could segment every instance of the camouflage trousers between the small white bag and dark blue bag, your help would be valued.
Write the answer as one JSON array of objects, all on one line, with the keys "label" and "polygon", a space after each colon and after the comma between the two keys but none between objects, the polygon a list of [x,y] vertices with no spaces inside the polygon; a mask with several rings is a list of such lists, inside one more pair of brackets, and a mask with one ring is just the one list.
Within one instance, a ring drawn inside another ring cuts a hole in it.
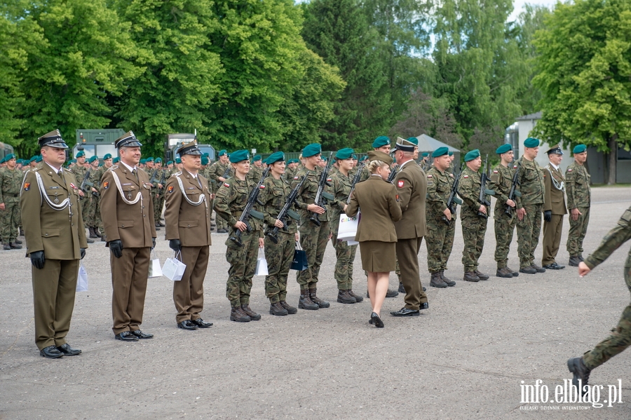
[{"label": "camouflage trousers between the small white bag and dark blue bag", "polygon": [[289,274],[296,241],[294,233],[279,231],[278,243],[265,237],[265,259],[267,260],[267,272],[265,277],[265,295],[270,303],[287,300],[287,275]]}]

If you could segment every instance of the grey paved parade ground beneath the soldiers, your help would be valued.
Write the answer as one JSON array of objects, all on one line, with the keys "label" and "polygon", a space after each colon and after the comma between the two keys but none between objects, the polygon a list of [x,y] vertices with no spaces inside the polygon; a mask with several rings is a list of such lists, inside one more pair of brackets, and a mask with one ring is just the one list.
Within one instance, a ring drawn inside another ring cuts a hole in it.
[{"label": "grey paved parade ground beneath the soldiers", "polygon": [[[584,257],[629,206],[631,188],[600,187],[592,195]],[[155,338],[132,343],[114,340],[109,249],[94,243],[83,259],[89,291],[76,295],[67,336],[83,353],[57,360],[42,358],[34,344],[29,259],[24,250],[0,252],[0,419],[629,419],[631,351],[592,371],[602,407],[556,402],[563,397],[555,391],[571,379],[566,360],[604,339],[629,304],[623,266],[631,243],[585,278],[570,266],[497,278],[489,218],[480,271],[491,278],[467,283],[459,223],[446,272],[457,285],[428,287],[429,309],[421,316],[388,315],[403,306],[400,294],[386,299],[386,327],[376,329],[367,323],[367,299],[338,304],[329,245],[318,283],[329,309],[271,316],[264,277],[255,276],[250,306],[262,320],[231,322],[226,235],[214,234],[202,316],[215,325],[179,330],[172,282],[151,278],[142,330]],[[568,230],[565,217],[557,258],[564,265]],[[163,263],[172,252],[159,233]],[[516,240],[513,269],[519,269]],[[428,286],[426,256],[423,245],[419,261]],[[540,263],[541,243],[536,258]],[[295,276],[291,271],[287,301],[297,306]],[[353,290],[365,296],[360,255],[354,278]],[[391,273],[391,286],[397,284]],[[621,396],[611,403],[619,384]],[[548,402],[524,402],[525,386],[540,398],[547,391]]]}]

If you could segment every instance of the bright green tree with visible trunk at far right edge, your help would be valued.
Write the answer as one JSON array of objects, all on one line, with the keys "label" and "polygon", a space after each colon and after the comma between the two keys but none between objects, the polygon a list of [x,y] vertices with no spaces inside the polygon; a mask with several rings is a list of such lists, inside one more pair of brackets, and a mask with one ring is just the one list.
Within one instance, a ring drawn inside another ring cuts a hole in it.
[{"label": "bright green tree with visible trunk at far right edge", "polygon": [[631,147],[631,2],[557,4],[545,24],[535,40],[533,82],[543,92],[536,132],[608,154],[613,184],[618,146]]}]

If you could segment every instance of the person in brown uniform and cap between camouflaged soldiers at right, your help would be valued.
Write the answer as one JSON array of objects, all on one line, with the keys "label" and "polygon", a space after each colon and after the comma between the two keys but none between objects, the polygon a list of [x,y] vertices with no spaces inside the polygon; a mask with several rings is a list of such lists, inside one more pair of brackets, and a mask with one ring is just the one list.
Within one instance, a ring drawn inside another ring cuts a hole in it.
[{"label": "person in brown uniform and cap between camouflaged soldiers at right", "polygon": [[567,214],[565,208],[565,178],[561,172],[563,151],[557,144],[548,150],[550,163],[543,170],[545,195],[543,200],[543,259],[544,269],[560,270],[565,266],[557,264],[557,252],[561,244],[563,216]]}]

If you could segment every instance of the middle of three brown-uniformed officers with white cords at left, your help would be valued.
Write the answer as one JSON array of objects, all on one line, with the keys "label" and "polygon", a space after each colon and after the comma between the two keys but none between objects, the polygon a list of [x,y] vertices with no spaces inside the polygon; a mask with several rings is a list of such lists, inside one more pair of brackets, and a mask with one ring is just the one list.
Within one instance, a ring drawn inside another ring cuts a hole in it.
[{"label": "middle of three brown-uniformed officers with white cords at left", "polygon": [[147,172],[137,168],[142,144],[131,131],[116,140],[119,165],[105,172],[101,183],[101,209],[106,246],[111,255],[111,312],[114,338],[122,341],[151,339],[140,330],[147,293],[151,250],[156,246],[154,203]]}]

